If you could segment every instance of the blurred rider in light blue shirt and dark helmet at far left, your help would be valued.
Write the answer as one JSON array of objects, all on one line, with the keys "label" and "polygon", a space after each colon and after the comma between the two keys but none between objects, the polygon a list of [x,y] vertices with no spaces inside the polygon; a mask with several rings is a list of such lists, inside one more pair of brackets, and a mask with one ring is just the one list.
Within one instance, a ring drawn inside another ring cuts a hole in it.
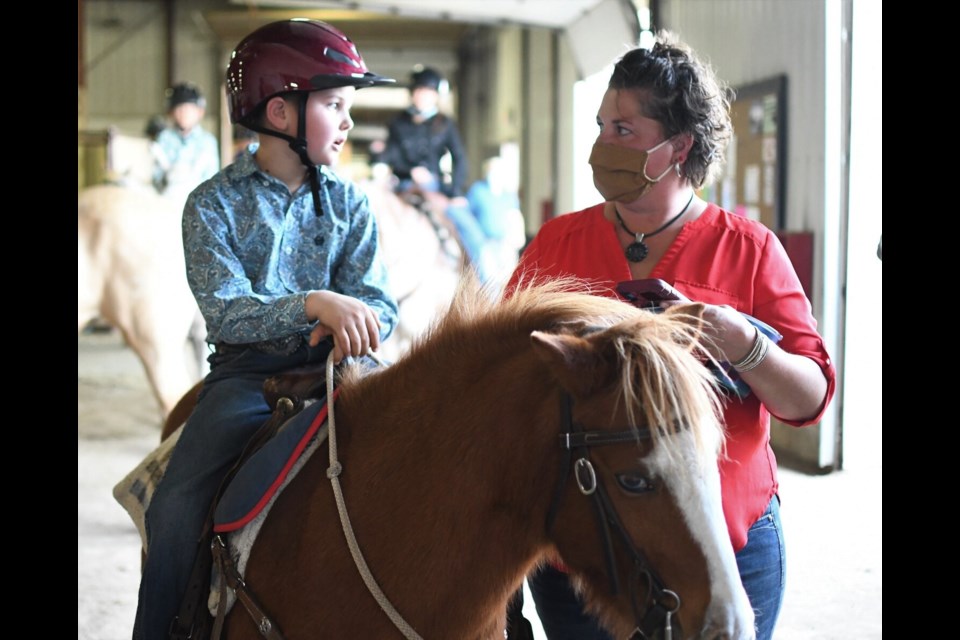
[{"label": "blurred rider in light blue shirt and dark helmet at far left", "polygon": [[220,146],[200,124],[207,100],[200,89],[181,82],[167,89],[167,117],[173,124],[157,133],[151,146],[153,186],[183,204],[198,184],[220,169]]}]

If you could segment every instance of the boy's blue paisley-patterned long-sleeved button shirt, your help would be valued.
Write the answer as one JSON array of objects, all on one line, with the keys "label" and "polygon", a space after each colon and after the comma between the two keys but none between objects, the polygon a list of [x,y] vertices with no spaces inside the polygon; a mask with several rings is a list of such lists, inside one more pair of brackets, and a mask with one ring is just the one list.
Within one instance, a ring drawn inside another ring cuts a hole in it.
[{"label": "boy's blue paisley-patterned long-sleeved button shirt", "polygon": [[328,167],[320,171],[323,215],[309,181],[291,194],[252,153],[201,184],[183,212],[187,280],[207,323],[207,341],[246,344],[307,333],[304,300],[330,290],[366,303],[385,340],[397,323],[376,219],[367,196]]}]

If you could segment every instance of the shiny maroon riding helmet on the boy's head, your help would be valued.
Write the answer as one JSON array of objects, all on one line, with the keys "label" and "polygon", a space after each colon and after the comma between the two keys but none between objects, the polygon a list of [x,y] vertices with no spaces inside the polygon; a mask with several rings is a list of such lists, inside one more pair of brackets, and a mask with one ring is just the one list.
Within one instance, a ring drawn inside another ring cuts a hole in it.
[{"label": "shiny maroon riding helmet on the boy's head", "polygon": [[392,84],[367,69],[343,32],[319,20],[282,20],[240,41],[227,67],[230,121],[243,123],[281,93]]}]

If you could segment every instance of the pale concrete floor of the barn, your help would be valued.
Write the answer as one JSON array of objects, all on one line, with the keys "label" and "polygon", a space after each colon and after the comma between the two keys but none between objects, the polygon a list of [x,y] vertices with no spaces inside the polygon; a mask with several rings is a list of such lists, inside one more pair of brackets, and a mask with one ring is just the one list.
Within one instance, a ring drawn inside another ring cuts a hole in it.
[{"label": "pale concrete floor of the barn", "polygon": [[[133,354],[115,334],[78,336],[78,640],[130,638],[140,540],[112,489],[156,446],[159,430]],[[778,640],[882,638],[882,476],[882,455],[825,476],[781,468],[788,570]],[[536,625],[529,606],[527,616]]]}]

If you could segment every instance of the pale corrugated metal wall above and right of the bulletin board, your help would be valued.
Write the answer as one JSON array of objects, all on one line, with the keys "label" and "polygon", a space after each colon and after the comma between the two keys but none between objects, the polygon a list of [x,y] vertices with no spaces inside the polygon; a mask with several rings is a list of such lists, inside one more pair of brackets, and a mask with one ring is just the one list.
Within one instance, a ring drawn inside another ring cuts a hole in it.
[{"label": "pale corrugated metal wall above and right of the bulletin board", "polygon": [[[732,87],[787,77],[785,216],[787,231],[814,237],[811,298],[819,329],[839,357],[843,336],[846,216],[842,122],[845,39],[842,11],[852,0],[661,0],[658,27],[676,32]],[[831,466],[840,402],[820,428],[775,428],[774,444]]]}]

